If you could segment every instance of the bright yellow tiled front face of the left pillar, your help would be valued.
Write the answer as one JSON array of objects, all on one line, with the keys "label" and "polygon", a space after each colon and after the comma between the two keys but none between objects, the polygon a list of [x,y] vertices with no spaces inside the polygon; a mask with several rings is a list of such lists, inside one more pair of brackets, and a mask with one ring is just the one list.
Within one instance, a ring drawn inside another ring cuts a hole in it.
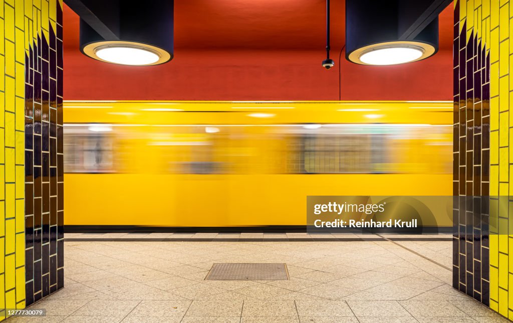
[{"label": "bright yellow tiled front face of the left pillar", "polygon": [[0,4],[0,319],[25,307],[24,14],[23,2]]}]

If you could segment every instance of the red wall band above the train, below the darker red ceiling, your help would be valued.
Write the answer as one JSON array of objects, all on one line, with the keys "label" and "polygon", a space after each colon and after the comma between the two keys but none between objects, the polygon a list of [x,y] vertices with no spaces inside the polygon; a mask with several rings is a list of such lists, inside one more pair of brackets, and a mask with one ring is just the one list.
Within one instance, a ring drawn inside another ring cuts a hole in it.
[{"label": "red wall band above the train, below the darker red ceiling", "polygon": [[[322,4],[317,4],[320,9]],[[191,48],[179,41],[182,47],[177,46],[170,63],[129,67],[97,62],[80,53],[77,22],[77,16],[65,8],[65,100],[339,100],[341,28],[333,31],[332,58],[337,66],[331,70],[321,67],[323,45],[312,46],[311,41],[303,49],[250,48],[249,43],[241,48],[227,44]],[[175,19],[175,33],[179,23]],[[361,66],[347,62],[343,54],[342,100],[452,100],[451,6],[441,15],[440,30],[440,51],[421,62]],[[316,32],[321,43],[323,28]],[[300,47],[300,35],[296,38],[297,44],[287,46]]]}]

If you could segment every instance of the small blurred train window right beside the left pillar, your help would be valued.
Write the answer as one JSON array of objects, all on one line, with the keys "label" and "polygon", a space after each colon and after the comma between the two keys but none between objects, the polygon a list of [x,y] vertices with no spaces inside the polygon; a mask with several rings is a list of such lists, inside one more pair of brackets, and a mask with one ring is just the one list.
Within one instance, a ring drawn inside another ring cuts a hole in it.
[{"label": "small blurred train window right beside the left pillar", "polygon": [[112,173],[112,128],[109,125],[64,127],[65,173]]}]

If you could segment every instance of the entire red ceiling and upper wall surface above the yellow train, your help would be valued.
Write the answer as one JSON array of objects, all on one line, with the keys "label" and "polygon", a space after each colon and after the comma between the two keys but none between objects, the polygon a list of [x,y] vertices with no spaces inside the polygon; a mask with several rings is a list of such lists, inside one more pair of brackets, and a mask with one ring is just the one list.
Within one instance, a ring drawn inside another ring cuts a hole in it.
[{"label": "entire red ceiling and upper wall surface above the yellow train", "polygon": [[[64,8],[65,99],[338,100],[325,52],[324,0],[175,1],[175,58],[154,67],[96,62],[78,51],[78,16]],[[342,62],[342,99],[450,100],[452,5],[440,15],[440,51],[422,62]],[[344,44],[344,0],[331,1],[332,58]]]}]

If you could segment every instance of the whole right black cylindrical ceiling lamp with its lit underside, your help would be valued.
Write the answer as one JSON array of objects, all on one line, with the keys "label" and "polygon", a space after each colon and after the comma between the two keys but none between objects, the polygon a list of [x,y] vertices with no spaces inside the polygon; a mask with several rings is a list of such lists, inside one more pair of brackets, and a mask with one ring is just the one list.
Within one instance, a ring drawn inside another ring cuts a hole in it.
[{"label": "whole right black cylindrical ceiling lamp with its lit underside", "polygon": [[346,1],[346,59],[362,65],[424,60],[438,51],[442,1]]}]

